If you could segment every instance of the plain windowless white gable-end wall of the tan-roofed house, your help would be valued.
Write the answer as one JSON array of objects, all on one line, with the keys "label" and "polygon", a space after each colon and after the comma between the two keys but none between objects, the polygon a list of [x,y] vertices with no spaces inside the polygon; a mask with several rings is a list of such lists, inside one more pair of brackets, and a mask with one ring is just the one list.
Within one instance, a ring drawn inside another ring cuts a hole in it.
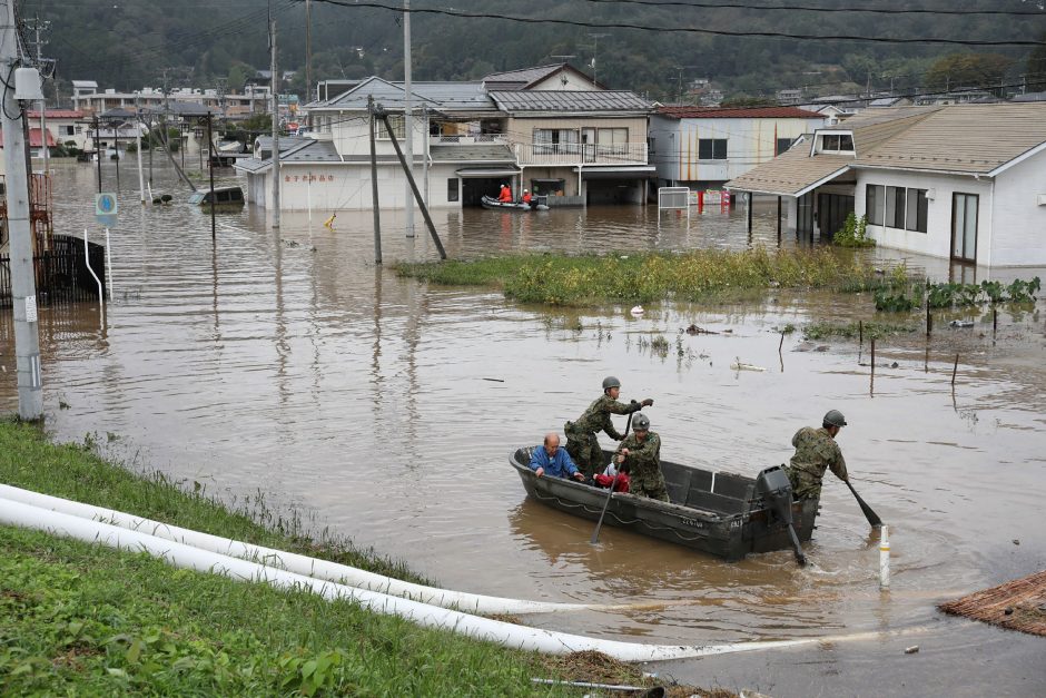
[{"label": "plain windowless white gable-end wall of the tan-roofed house", "polygon": [[1046,265],[1046,153],[1000,174],[991,210],[990,262],[995,266]]}]

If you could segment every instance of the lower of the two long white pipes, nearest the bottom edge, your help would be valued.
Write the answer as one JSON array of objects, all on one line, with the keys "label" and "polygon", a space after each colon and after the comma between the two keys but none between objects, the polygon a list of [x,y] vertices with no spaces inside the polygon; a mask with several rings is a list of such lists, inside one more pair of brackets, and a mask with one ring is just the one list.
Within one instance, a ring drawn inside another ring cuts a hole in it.
[{"label": "lower of the two long white pipes, nearest the bottom edge", "polygon": [[280,589],[304,588],[325,599],[349,600],[358,603],[364,609],[382,615],[397,616],[426,628],[448,630],[477,640],[495,642],[525,651],[550,655],[600,651],[621,661],[661,661],[760,649],[779,649],[822,641],[821,638],[807,638],[697,647],[639,645],[616,640],[601,640],[515,626],[355,587],[320,581],[304,574],[277,570],[256,562],[191,548],[184,543],[164,540],[140,531],[129,531],[108,523],[89,521],[12,500],[0,499],[0,523],[46,531],[55,535],[110,548],[145,551],[175,567],[221,574],[238,581],[262,581]]}]

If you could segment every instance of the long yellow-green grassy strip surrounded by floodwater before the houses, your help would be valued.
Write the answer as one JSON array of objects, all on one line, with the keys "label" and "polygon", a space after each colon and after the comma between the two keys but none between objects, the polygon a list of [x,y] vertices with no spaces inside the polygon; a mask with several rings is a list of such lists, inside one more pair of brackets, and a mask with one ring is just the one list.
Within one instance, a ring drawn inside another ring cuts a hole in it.
[{"label": "long yellow-green grassy strip surrounded by floodwater before the houses", "polygon": [[709,301],[768,288],[865,289],[875,269],[830,249],[742,252],[698,249],[683,254],[605,256],[512,255],[470,262],[401,263],[401,276],[445,285],[500,288],[524,303],[588,305]]}]

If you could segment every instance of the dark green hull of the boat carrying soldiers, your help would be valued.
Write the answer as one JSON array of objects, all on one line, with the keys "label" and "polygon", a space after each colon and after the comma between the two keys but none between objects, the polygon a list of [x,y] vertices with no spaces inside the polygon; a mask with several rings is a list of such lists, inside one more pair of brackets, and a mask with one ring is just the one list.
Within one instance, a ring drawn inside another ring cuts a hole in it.
[{"label": "dark green hull of the boat carrying soldiers", "polygon": [[[599,520],[608,490],[561,478],[537,478],[529,462],[530,449],[519,449],[510,458],[527,495],[553,509]],[[614,492],[603,524],[730,562],[749,553],[791,550],[788,527],[777,520],[761,499],[754,498],[754,479],[665,462],[662,471],[672,502]],[[705,482],[711,489],[703,489]],[[792,503],[792,521],[800,541],[810,540],[817,512],[818,500]]]}]

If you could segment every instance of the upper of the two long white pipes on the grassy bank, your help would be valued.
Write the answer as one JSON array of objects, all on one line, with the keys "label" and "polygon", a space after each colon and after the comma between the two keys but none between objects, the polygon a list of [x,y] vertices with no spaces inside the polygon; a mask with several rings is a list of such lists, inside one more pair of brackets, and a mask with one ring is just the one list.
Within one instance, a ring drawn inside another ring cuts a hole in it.
[{"label": "upper of the two long white pipes on the grassy bank", "polygon": [[[262,545],[253,545],[229,538],[200,533],[176,525],[169,525],[159,521],[142,519],[132,514],[102,509],[91,504],[73,502],[49,494],[41,494],[30,490],[22,490],[7,484],[0,484],[0,498],[4,498],[42,509],[60,511],[66,514],[112,523],[115,525],[131,530],[147,531],[148,533],[162,538],[165,540],[185,543],[200,550],[207,550],[219,554],[231,556],[245,560],[260,562],[268,567],[284,569],[307,577],[315,577],[327,581],[339,582],[352,587],[359,587],[369,591],[381,591],[391,596],[414,599],[423,603],[440,606],[443,608],[457,608],[473,613],[547,613],[554,611],[579,611],[579,610],[626,610],[651,606],[650,603],[629,603],[600,606],[594,603],[556,603],[551,601],[526,601],[520,599],[505,599],[501,597],[489,597],[476,593],[466,593],[463,591],[450,591],[446,589],[436,589],[425,587],[375,574],[366,570],[361,570],[347,564],[338,564],[328,560],[318,560],[293,552],[274,550]],[[663,602],[655,606],[665,606]]]}]

